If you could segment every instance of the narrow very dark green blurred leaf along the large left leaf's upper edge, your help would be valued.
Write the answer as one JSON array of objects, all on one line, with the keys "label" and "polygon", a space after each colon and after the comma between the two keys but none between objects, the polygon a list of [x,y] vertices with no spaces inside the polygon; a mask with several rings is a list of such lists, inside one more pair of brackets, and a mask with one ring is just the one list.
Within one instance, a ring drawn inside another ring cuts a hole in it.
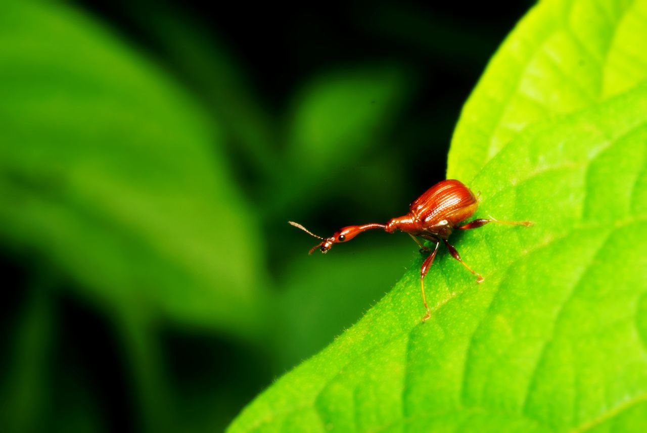
[{"label": "narrow very dark green blurred leaf along the large left leaf's upper edge", "polygon": [[126,3],[131,17],[160,41],[170,66],[193,87],[221,120],[228,143],[245,154],[264,180],[276,168],[276,134],[252,80],[214,28],[206,29],[184,12],[184,5],[155,3],[155,19],[149,16],[149,3]]}]

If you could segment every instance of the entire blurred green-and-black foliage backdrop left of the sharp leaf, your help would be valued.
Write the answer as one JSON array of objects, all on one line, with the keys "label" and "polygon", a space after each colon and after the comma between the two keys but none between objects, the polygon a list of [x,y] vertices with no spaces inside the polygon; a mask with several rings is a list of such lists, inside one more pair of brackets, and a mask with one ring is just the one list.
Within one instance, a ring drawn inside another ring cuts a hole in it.
[{"label": "entire blurred green-and-black foliage backdrop left of the sharp leaf", "polygon": [[5,2],[0,431],[223,430],[418,266],[384,233],[308,257],[287,220],[444,178],[530,3]]}]

